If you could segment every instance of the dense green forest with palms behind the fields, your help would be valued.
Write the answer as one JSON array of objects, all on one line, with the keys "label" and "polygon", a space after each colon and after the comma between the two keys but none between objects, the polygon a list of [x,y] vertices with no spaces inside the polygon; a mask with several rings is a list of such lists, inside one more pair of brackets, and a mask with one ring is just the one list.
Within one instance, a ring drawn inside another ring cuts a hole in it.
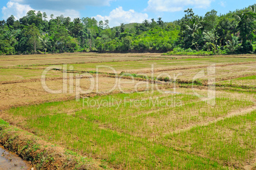
[{"label": "dense green forest with palms behind the fields", "polygon": [[[171,20],[171,18],[170,18]],[[131,25],[131,24],[130,24]],[[192,9],[174,22],[145,20],[110,28],[108,20],[49,18],[29,11],[0,21],[0,55],[63,52],[168,52],[167,54],[256,53],[256,5],[204,16]]]}]

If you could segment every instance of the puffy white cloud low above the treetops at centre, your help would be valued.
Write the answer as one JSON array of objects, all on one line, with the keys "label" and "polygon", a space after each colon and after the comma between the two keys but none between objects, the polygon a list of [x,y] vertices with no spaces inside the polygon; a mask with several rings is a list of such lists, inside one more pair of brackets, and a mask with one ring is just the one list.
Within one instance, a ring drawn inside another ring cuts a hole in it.
[{"label": "puffy white cloud low above the treetops at centre", "polygon": [[148,20],[148,14],[146,13],[138,13],[134,10],[124,11],[122,6],[116,8],[115,10],[110,12],[108,16],[97,15],[96,20],[109,20],[110,27],[115,27],[120,25],[121,23],[134,23],[134,22],[143,22],[143,20]]}]

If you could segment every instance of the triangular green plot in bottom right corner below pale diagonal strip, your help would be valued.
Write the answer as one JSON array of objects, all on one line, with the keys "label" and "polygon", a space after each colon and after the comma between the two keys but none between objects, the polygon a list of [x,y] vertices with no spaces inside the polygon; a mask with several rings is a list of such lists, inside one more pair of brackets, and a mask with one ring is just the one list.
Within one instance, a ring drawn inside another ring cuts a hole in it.
[{"label": "triangular green plot in bottom right corner below pale diagonal strip", "polygon": [[[216,124],[166,136],[165,145],[197,153],[232,167],[256,167],[256,111]],[[161,140],[161,141],[163,141]]]}]

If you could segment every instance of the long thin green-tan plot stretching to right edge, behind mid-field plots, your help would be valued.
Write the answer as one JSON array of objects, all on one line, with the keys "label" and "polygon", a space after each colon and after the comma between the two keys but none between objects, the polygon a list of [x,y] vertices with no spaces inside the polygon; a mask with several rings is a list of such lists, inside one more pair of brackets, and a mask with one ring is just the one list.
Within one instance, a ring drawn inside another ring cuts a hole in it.
[{"label": "long thin green-tan plot stretching to right edge, behind mid-field plots", "polygon": [[[57,64],[57,62],[55,62]],[[62,63],[62,62],[60,62]],[[233,64],[253,64],[255,63],[254,58],[220,58],[220,57],[206,57],[206,58],[196,58],[196,59],[150,59],[150,60],[127,60],[127,61],[110,61],[110,62],[95,62],[95,63],[78,63],[73,62],[72,64],[68,64],[69,66],[73,66],[76,71],[97,71],[97,66],[108,66],[99,68],[99,72],[101,73],[113,73],[113,70],[110,69],[112,67],[117,71],[117,73],[121,72],[129,72],[129,73],[151,73],[152,66],[155,71],[165,71],[168,69],[192,69],[197,67],[208,67],[211,64],[225,64],[225,65],[233,65]],[[55,65],[56,65],[55,64]],[[39,64],[38,64],[39,65]],[[54,65],[54,64],[52,64]],[[60,64],[61,65],[61,64]],[[25,68],[32,69],[45,69],[46,67],[51,65],[44,66],[20,66]]]}]

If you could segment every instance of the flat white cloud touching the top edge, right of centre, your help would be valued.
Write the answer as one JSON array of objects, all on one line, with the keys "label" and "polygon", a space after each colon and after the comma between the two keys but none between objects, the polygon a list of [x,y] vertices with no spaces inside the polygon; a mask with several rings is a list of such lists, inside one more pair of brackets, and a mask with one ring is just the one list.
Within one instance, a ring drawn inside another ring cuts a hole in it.
[{"label": "flat white cloud touching the top edge, right of centre", "polygon": [[213,0],[149,0],[146,11],[174,12],[182,11],[186,6],[208,8]]}]

